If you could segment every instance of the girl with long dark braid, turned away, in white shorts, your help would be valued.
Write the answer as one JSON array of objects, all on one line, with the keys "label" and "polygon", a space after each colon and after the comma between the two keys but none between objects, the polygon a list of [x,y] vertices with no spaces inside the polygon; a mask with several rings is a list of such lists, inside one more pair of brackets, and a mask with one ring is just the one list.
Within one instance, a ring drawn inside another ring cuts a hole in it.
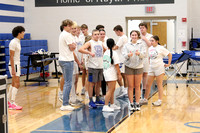
[{"label": "girl with long dark braid, turned away, in white shorts", "polygon": [[[105,51],[103,56],[103,74],[105,81],[108,85],[108,91],[105,96],[105,105],[103,106],[103,112],[114,112],[114,110],[121,109],[119,106],[114,104],[114,91],[117,80],[122,80],[119,64],[120,60],[113,47],[115,42],[112,38],[107,40],[108,49]],[[110,106],[108,105],[110,102]]]}]

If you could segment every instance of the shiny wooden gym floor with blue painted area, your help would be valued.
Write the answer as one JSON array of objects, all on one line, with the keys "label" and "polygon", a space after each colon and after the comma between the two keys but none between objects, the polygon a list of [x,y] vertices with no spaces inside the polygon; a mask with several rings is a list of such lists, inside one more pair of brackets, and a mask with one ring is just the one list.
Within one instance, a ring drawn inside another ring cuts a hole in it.
[{"label": "shiny wooden gym floor with blue painted area", "polygon": [[[178,88],[173,82],[164,86],[162,106],[154,107],[158,99],[156,89],[143,105],[141,111],[129,112],[126,98],[116,99],[122,107],[113,114],[102,113],[102,107],[78,106],[74,111],[60,111],[57,79],[49,80],[49,86],[21,82],[17,94],[23,110],[9,110],[10,133],[200,133],[200,85],[198,82],[186,86],[185,79],[178,79]],[[116,86],[118,87],[118,86]],[[81,91],[81,77],[78,92]],[[117,93],[118,90],[116,90]],[[84,98],[84,96],[82,96]]]}]

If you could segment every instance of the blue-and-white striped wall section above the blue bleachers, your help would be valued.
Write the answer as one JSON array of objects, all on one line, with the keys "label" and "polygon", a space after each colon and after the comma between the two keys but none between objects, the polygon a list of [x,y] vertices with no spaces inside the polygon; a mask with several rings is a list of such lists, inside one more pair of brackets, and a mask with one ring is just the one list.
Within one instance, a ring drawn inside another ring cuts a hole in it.
[{"label": "blue-and-white striped wall section above the blue bleachers", "polygon": [[11,33],[13,27],[24,24],[24,0],[0,1],[0,33]]}]

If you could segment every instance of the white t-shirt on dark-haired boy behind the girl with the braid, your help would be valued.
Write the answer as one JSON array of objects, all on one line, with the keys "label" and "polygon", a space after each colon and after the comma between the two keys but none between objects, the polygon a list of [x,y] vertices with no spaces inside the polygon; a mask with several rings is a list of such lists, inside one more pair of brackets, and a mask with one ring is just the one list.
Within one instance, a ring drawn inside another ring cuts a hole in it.
[{"label": "white t-shirt on dark-haired boy behind the girl with the braid", "polygon": [[118,46],[118,49],[116,50],[118,56],[119,56],[119,60],[121,63],[124,63],[124,56],[122,55],[122,49],[124,47],[124,45],[128,43],[128,37],[126,35],[123,35],[119,38],[116,46]]}]

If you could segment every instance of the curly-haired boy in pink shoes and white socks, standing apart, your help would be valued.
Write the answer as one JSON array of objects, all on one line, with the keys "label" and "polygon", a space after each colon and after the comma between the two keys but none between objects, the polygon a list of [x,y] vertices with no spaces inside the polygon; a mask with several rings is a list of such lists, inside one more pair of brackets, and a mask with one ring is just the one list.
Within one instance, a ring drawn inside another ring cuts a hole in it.
[{"label": "curly-haired boy in pink shoes and white socks, standing apart", "polygon": [[24,38],[25,29],[22,26],[17,26],[12,30],[12,35],[14,39],[10,41],[9,52],[10,52],[10,61],[9,61],[9,71],[12,76],[12,85],[8,91],[8,108],[13,110],[21,110],[22,107],[18,106],[15,103],[16,95],[20,87],[20,53],[21,53],[21,44],[20,40]]}]

